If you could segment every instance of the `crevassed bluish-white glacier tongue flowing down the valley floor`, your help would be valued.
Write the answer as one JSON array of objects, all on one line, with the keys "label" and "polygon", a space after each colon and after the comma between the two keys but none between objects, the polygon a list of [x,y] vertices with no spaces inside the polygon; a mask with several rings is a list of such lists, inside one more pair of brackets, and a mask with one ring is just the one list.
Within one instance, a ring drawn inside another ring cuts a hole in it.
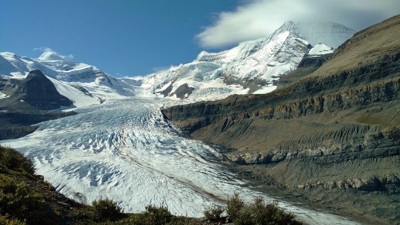
[{"label": "crevassed bluish-white glacier tongue flowing down the valley floor", "polygon": [[[38,123],[35,132],[0,144],[26,154],[66,196],[84,203],[107,196],[125,212],[163,202],[172,213],[198,217],[233,192],[247,202],[274,199],[218,165],[217,147],[178,135],[160,112],[172,102],[131,97],[80,107],[77,115]],[[307,223],[357,224],[278,200]]]}]

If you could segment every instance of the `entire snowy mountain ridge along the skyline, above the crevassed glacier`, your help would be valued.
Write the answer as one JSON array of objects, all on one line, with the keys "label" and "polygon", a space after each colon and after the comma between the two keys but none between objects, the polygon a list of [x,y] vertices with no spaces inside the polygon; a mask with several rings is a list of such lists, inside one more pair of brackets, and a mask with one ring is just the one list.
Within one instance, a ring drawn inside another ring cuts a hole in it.
[{"label": "entire snowy mountain ridge along the skyline, above the crevassed glacier", "polygon": [[[38,58],[0,52],[0,75],[22,79],[30,70],[39,69],[78,107],[134,95],[213,100],[231,94],[270,92],[279,77],[294,70],[305,54],[331,53],[331,46],[336,47],[354,32],[333,22],[287,21],[268,37],[244,41],[221,52],[201,51],[192,62],[140,80],[115,78],[54,52],[43,52]],[[317,48],[309,52],[315,44]]]}]

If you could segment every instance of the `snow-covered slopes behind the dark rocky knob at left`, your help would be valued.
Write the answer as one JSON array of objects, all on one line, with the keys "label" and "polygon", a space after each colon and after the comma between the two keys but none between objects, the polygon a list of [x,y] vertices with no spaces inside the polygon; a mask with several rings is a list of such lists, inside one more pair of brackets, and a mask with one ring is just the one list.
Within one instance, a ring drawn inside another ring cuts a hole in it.
[{"label": "snow-covered slopes behind the dark rocky knob at left", "polygon": [[[58,92],[78,107],[134,95],[133,85],[105,74],[92,65],[65,60],[51,52],[44,52],[38,58],[0,52],[0,75],[3,78],[22,79],[33,69],[40,69],[54,83]],[[92,96],[77,87],[83,87]]]}]

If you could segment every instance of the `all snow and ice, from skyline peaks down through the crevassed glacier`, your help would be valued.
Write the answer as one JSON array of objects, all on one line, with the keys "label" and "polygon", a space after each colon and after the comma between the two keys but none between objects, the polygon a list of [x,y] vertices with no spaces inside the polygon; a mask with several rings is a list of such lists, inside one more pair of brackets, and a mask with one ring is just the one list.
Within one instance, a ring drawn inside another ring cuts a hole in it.
[{"label": "all snow and ice, from skyline peaks down through the crevassed glacier", "polygon": [[109,197],[125,212],[164,203],[174,214],[199,217],[239,192],[246,202],[255,196],[277,199],[306,223],[358,224],[247,182],[219,163],[221,147],[186,138],[160,112],[173,104],[270,92],[305,54],[330,53],[330,46],[354,32],[333,22],[287,21],[268,37],[221,52],[202,51],[189,63],[140,79],[115,78],[53,52],[38,58],[0,52],[1,78],[21,79],[40,69],[78,112],[38,123],[33,133],[0,144],[27,155],[57,191],[83,203]]}]

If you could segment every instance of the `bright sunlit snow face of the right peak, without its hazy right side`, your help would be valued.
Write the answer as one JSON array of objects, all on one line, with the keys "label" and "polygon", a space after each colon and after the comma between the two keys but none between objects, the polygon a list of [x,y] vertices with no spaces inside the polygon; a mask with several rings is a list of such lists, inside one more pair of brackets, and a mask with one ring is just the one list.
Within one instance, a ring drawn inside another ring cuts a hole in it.
[{"label": "bright sunlit snow face of the right peak, without its hazy right side", "polygon": [[[288,31],[266,38],[246,41],[218,53],[202,51],[193,62],[155,73],[143,80],[147,94],[159,93],[169,85],[168,95],[187,83],[194,87],[189,99],[217,99],[231,94],[249,92],[246,83],[258,84],[253,91],[265,93],[276,88],[279,76],[296,68],[305,53],[308,42]],[[243,87],[244,86],[244,87]],[[158,94],[158,96],[163,96]]]}]

